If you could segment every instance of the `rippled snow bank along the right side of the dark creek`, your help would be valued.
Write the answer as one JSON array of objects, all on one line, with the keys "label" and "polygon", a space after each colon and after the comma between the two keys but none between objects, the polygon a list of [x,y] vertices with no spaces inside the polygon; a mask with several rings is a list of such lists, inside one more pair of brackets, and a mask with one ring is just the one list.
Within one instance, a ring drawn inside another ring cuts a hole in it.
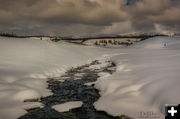
[{"label": "rippled snow bank along the right side of the dark creek", "polygon": [[125,54],[111,58],[117,71],[96,82],[102,97],[95,108],[112,115],[138,118],[140,112],[153,112],[164,118],[165,104],[180,103],[179,48],[180,38],[157,37],[121,50]]}]

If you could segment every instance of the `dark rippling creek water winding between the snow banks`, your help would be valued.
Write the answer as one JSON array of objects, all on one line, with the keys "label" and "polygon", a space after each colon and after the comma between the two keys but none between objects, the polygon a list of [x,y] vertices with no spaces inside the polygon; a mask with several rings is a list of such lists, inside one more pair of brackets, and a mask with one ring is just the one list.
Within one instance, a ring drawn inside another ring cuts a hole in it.
[{"label": "dark rippling creek water winding between the snow banks", "polygon": [[[88,86],[85,84],[96,81],[100,72],[112,74],[116,67],[114,63],[108,62],[106,66],[99,69],[88,68],[99,64],[100,62],[93,61],[90,64],[72,68],[59,78],[49,79],[48,89],[53,92],[53,95],[37,100],[44,104],[44,107],[29,109],[28,113],[19,119],[128,119],[125,116],[113,117],[94,108],[94,102],[100,97],[99,91],[93,84]],[[78,80],[76,80],[77,78]],[[60,80],[64,80],[64,82]],[[52,108],[54,105],[70,101],[82,101],[83,105],[62,113]]]}]

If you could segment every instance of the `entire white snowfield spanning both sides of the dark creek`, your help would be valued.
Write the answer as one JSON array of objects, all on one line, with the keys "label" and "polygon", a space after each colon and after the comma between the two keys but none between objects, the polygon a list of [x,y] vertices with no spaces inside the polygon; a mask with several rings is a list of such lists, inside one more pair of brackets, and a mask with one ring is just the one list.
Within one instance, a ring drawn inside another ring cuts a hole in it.
[{"label": "entire white snowfield spanning both sides of the dark creek", "polygon": [[0,117],[15,119],[26,113],[24,109],[43,106],[23,101],[50,95],[48,78],[107,58],[116,63],[117,71],[99,74],[95,86],[102,97],[94,104],[96,109],[112,115],[151,111],[163,116],[164,104],[180,100],[179,53],[179,37],[155,37],[116,49],[0,37]]}]

